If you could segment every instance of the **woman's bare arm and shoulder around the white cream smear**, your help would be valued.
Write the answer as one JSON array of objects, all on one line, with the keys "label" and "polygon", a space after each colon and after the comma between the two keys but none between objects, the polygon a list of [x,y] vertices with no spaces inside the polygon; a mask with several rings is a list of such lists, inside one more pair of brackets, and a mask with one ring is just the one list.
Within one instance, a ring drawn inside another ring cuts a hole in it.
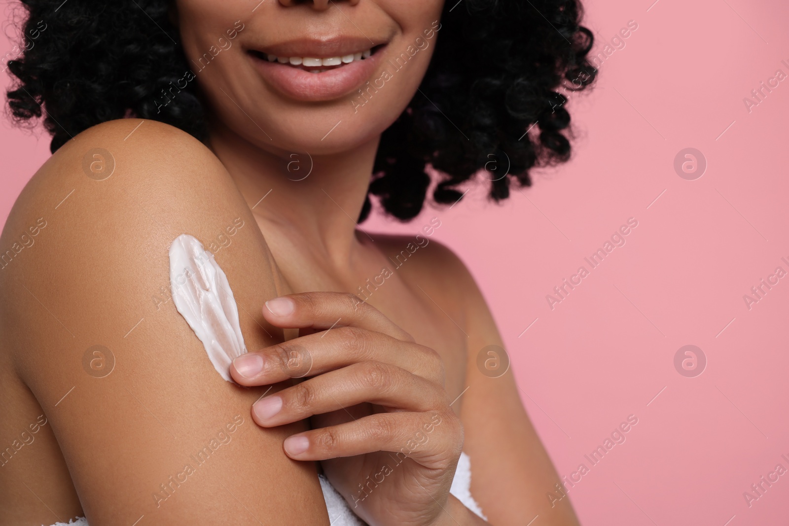
[{"label": "woman's bare arm and shoulder around the white cream smear", "polygon": [[314,465],[282,452],[301,424],[257,427],[264,390],[222,379],[170,299],[168,249],[189,233],[225,271],[247,348],[281,341],[260,315],[273,259],[210,151],[153,121],[96,126],[25,188],[3,246],[28,222],[35,244],[0,278],[2,328],[91,526],[328,524]]}]

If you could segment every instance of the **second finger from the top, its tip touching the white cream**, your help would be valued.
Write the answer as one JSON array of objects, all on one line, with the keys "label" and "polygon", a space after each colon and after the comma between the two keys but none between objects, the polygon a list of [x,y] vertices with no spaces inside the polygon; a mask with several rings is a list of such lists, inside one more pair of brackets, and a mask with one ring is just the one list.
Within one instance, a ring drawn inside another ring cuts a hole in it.
[{"label": "second finger from the top, its tip touching the white cream", "polygon": [[443,386],[443,363],[436,351],[353,326],[335,327],[242,354],[230,365],[230,375],[242,386],[264,386],[321,375],[367,360],[401,367]]}]

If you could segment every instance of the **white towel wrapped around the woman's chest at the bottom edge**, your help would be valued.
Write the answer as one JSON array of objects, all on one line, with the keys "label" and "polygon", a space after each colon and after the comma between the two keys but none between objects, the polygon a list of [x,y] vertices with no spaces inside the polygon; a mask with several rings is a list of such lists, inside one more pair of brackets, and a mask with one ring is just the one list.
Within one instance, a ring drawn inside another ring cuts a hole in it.
[{"label": "white towel wrapped around the woman's chest at the bottom edge", "polygon": [[[335,490],[329,480],[323,475],[319,476],[319,479],[331,526],[365,526],[365,523],[351,511],[348,502]],[[471,496],[471,459],[466,453],[460,453],[458,469],[454,472],[450,493],[466,505],[466,508],[487,520],[487,517],[482,514],[480,505]],[[85,517],[77,517],[69,520],[68,523],[56,522],[52,526],[88,526],[88,520]]]}]

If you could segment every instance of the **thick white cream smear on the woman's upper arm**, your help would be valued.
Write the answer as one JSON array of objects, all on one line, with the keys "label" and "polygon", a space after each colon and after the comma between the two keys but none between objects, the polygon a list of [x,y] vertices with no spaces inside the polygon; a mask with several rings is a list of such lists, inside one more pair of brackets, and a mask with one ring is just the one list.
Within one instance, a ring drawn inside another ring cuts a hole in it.
[{"label": "thick white cream smear on the woman's upper arm", "polygon": [[236,300],[214,255],[189,234],[170,244],[170,292],[178,312],[203,342],[211,364],[232,382],[230,362],[247,352]]}]

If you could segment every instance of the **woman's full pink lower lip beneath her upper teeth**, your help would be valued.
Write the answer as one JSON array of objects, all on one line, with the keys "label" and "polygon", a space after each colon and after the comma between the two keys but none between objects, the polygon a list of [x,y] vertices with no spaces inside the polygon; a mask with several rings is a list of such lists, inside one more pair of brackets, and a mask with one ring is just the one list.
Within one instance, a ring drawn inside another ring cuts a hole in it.
[{"label": "woman's full pink lower lip beneath her upper teeth", "polygon": [[[350,64],[314,66],[269,62],[264,54],[249,53],[260,74],[268,84],[291,99],[318,102],[338,99],[360,88],[376,71],[383,57],[383,48],[377,47],[368,58]],[[324,69],[321,73],[312,70]]]}]

